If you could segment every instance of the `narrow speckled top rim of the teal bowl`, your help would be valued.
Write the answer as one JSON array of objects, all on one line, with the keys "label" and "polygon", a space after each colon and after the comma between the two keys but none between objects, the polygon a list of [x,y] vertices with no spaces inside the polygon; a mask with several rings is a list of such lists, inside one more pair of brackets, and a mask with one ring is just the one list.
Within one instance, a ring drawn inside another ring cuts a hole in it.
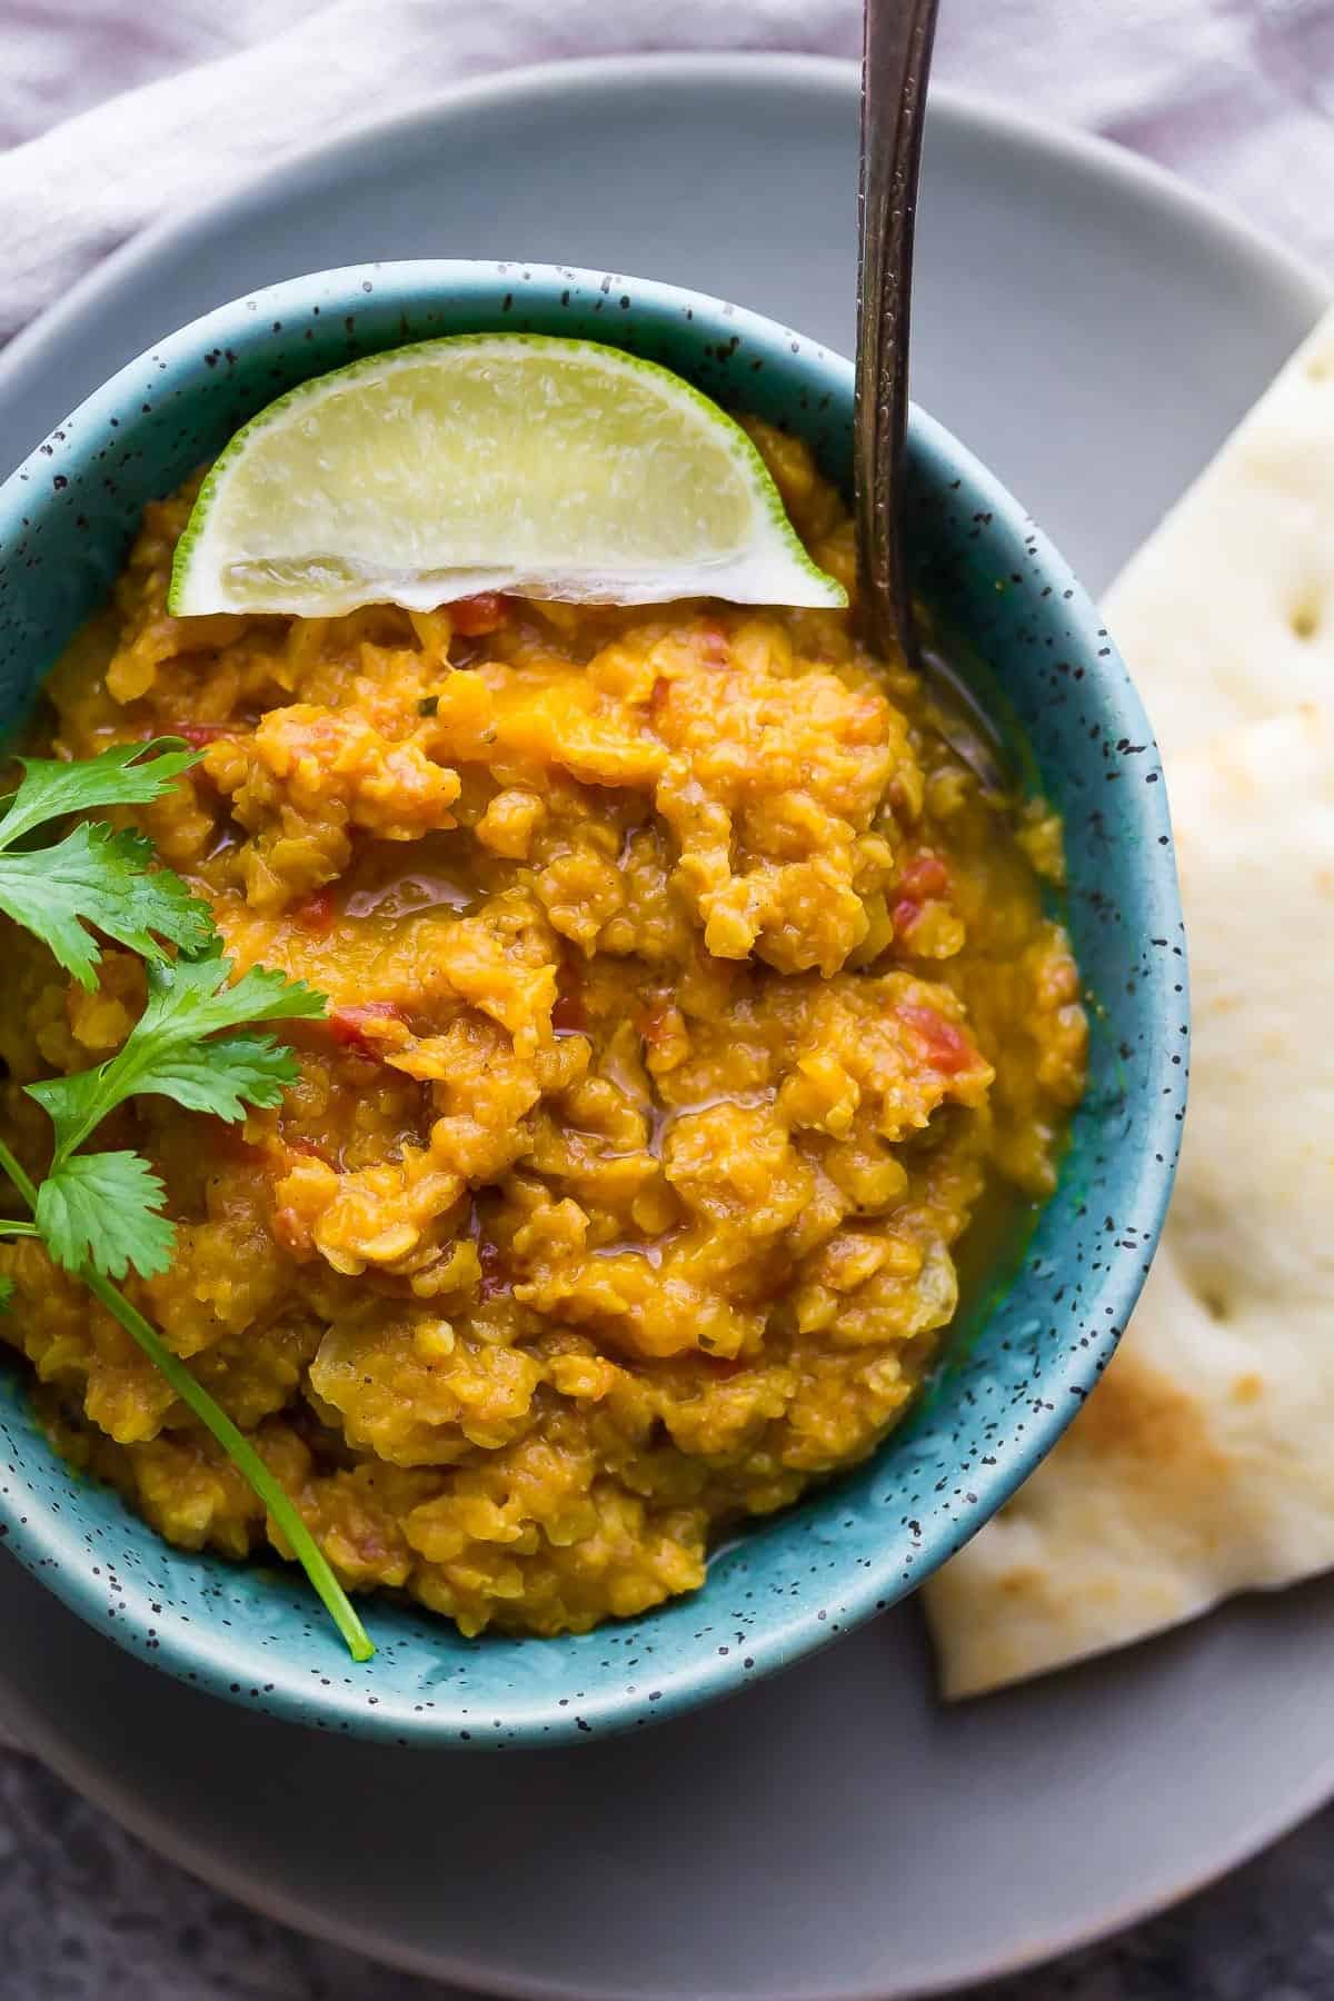
[{"label": "narrow speckled top rim of the teal bowl", "polygon": [[[850,412],[852,362],[816,342],[804,340],[800,334],[772,318],[766,318],[764,314],[756,314],[744,306],[734,306],[684,286],[632,278],[626,274],[604,274],[596,270],[580,270],[576,266],[536,264],[524,260],[420,258],[384,264],[336,266],[280,280],[278,284],[228,300],[196,320],[186,322],[186,326],[174,330],[144,354],[134,356],[118,368],[98,390],[84,398],[84,402],[78,404],[78,408],[70,412],[70,416],[64,418],[64,422],[58,424],[4,482],[0,482],[0,548],[10,538],[10,532],[18,530],[18,524],[28,524],[28,514],[36,514],[42,506],[52,506],[56,498],[52,494],[54,464],[62,458],[72,460],[78,464],[82,476],[86,472],[84,452],[88,450],[84,440],[100,436],[116,412],[140,412],[144,370],[150,366],[154,376],[164,372],[170,378],[174,368],[188,372],[190,362],[198,364],[206,344],[212,342],[212,348],[218,352],[226,350],[230,338],[238,332],[254,332],[270,318],[282,320],[282,344],[294,348],[296,342],[290,334],[290,322],[298,322],[304,312],[310,312],[312,304],[340,302],[354,308],[358,304],[366,304],[366,292],[384,294],[388,290],[392,298],[396,286],[404,290],[410,288],[410,296],[418,304],[426,298],[434,298],[436,302],[446,298],[456,304],[464,304],[468,298],[490,298],[490,294],[494,294],[496,306],[490,310],[494,310],[500,320],[500,294],[514,290],[520,284],[532,286],[534,304],[540,294],[546,306],[550,306],[554,294],[566,288],[586,288],[588,294],[592,294],[594,290],[606,290],[608,284],[616,284],[622,292],[632,296],[634,306],[642,308],[642,312],[656,312],[668,318],[690,318],[694,322],[694,336],[700,340],[710,336],[730,338],[732,334],[740,334],[764,352],[766,364],[768,358],[774,360],[774,372],[784,368],[790,376],[800,376],[804,370],[818,370],[822,386],[830,388],[834,402],[840,406],[846,404]],[[384,304],[384,296],[380,298],[380,304]],[[634,320],[636,314],[630,314],[630,324],[634,324]],[[608,324],[604,338],[612,340],[612,344],[614,332],[614,324]],[[412,338],[424,336],[414,334]],[[392,342],[386,340],[376,346],[388,348]],[[324,372],[324,368],[312,370],[312,374],[318,372]],[[156,408],[148,414],[132,414],[124,424],[122,436],[132,436],[140,424],[152,424],[156,416]],[[1062,602],[1064,614],[1078,620],[1082,628],[1082,642],[1086,634],[1086,640],[1092,646],[1096,632],[1098,640],[1106,642],[1102,650],[1110,654],[1110,666],[1120,668],[1120,660],[1112,642],[1106,640],[1106,632],[1092,600],[1054,544],[1040,528],[1036,528],[1028,512],[1008,492],[1008,488],[1004,488],[1002,482],[958,438],[952,436],[952,432],[948,432],[916,404],[910,414],[910,434],[914,458],[930,462],[938,472],[948,470],[956,482],[964,484],[970,502],[976,508],[988,510],[988,518],[994,514],[1002,526],[1018,530],[1018,534],[1030,544],[1034,560],[1042,566],[1044,576],[1058,592],[1058,602]],[[70,484],[74,484],[74,480],[70,480]],[[40,498],[36,498],[36,494],[40,494]],[[1106,690],[1108,676],[1098,674],[1096,684]],[[1104,706],[1118,706],[1120,718],[1132,726],[1132,732],[1152,744],[1148,718],[1144,716],[1142,702],[1128,676],[1118,680],[1114,698],[1104,692],[1100,700]],[[1142,904],[1140,914],[1146,922],[1164,928],[1164,932],[1174,932],[1180,928],[1180,898],[1176,892],[1166,786],[1136,786],[1134,790],[1138,796],[1136,810],[1146,836],[1140,846],[1144,856],[1148,856],[1148,860],[1142,860],[1136,866],[1136,882],[1140,890],[1138,900]],[[1166,836],[1166,844],[1162,842],[1162,836]],[[1176,970],[1180,970],[1180,966]],[[1186,1009],[1184,994],[1180,998],[1180,1009]],[[1172,1075],[1172,1071],[1166,1069],[1166,1053],[1152,1053],[1150,1077],[1144,1093],[1146,1103],[1142,1109],[1136,1107],[1136,1111],[1142,1111],[1144,1117],[1136,1119],[1134,1127],[1138,1139],[1138,1215],[1150,1219],[1150,1229],[1146,1233],[1146,1249],[1150,1253],[1156,1247],[1158,1233],[1162,1229],[1180,1137],[1180,1073]],[[1154,1085],[1160,1085],[1162,1089],[1152,1089]],[[1144,1191],[1148,1191],[1148,1199],[1144,1199]],[[1118,1331],[1130,1317],[1146,1271],[1148,1263],[1120,1259],[1110,1261],[1108,1269],[1098,1279],[1094,1299],[1096,1305],[1106,1311],[1110,1323],[1106,1355],[1112,1353]],[[1102,1363],[1098,1363],[1098,1367]],[[1088,1359],[1084,1359],[1082,1369],[1086,1373]],[[1044,1387],[1050,1385],[1058,1391],[1074,1389],[1074,1383],[1062,1383],[1062,1373],[1072,1375],[1068,1359],[1064,1359],[1062,1365],[1052,1363],[1050,1369],[1044,1371]],[[976,1529],[980,1529],[982,1523],[1032,1473],[1038,1461],[1046,1455],[1046,1451],[1050,1451],[1064,1431],[1068,1413],[1072,1415],[1074,1407],[1078,1407],[1076,1397],[1068,1397],[1060,1405],[1052,1399],[1048,1413],[1038,1415],[1038,1421],[1028,1427],[1024,1443],[1008,1451],[1004,1469],[994,1467],[990,1471],[972,1471],[974,1491],[968,1493],[970,1507],[964,1533],[956,1535],[948,1543],[946,1537],[938,1539],[940,1547],[934,1553],[926,1553],[912,1573],[914,1587],[922,1583],[932,1569],[946,1561],[946,1557],[952,1555],[962,1541],[976,1533]],[[44,1447],[44,1451],[56,1457],[54,1449]],[[78,1617],[82,1617],[88,1625],[106,1633],[106,1591],[102,1583],[94,1583],[88,1575],[88,1551],[82,1547],[74,1519],[64,1511],[52,1511],[52,1507],[38,1495],[20,1493],[20,1485],[22,1477],[18,1473],[10,1475],[10,1483],[0,1479],[0,1539],[6,1541],[6,1547],[18,1557],[18,1561],[24,1563],[24,1567],[38,1577],[40,1583],[48,1585],[48,1589],[52,1589],[62,1603],[78,1613]],[[816,1505],[820,1499],[826,1497],[816,1497]],[[828,1499],[836,1505],[832,1495],[828,1495]],[[810,1505],[810,1499],[806,1505]],[[790,1515],[790,1511],[784,1511],[784,1515]],[[126,1509],[126,1517],[134,1531],[142,1531],[146,1537],[154,1539],[154,1543],[162,1541],[140,1515]],[[782,1519],[784,1517],[778,1517],[778,1521]],[[168,1545],[162,1547],[166,1549]],[[262,1565],[262,1559],[252,1559],[250,1569],[252,1573],[264,1569],[266,1579],[272,1577],[272,1571]],[[460,1733],[460,1711],[450,1707],[444,1697],[444,1689],[442,1701],[436,1703],[430,1713],[422,1711],[420,1703],[414,1705],[410,1699],[390,1695],[388,1691],[378,1697],[366,1697],[350,1675],[330,1675],[322,1681],[320,1669],[298,1667],[294,1663],[282,1663],[280,1659],[260,1655],[258,1647],[244,1631],[240,1635],[236,1631],[222,1633],[218,1625],[190,1623],[184,1633],[180,1627],[172,1627],[170,1633],[158,1629],[158,1637],[146,1641],[146,1633],[152,1631],[152,1587],[142,1585],[136,1577],[122,1577],[120,1587],[116,1615],[110,1623],[110,1637],[114,1637],[128,1651],[136,1653],[136,1657],[172,1673],[178,1679],[210,1689],[224,1699],[230,1697],[234,1701],[246,1701],[246,1695],[254,1699],[258,1693],[250,1687],[250,1683],[262,1671],[266,1679],[264,1701],[260,1707],[270,1715],[350,1735],[382,1737],[396,1743],[434,1743],[448,1745],[450,1749],[574,1743],[594,1731],[598,1735],[610,1735],[612,1731],[640,1727],[648,1721],[680,1715],[682,1711],[704,1701],[738,1693],[752,1679],[760,1679],[762,1675],[794,1665],[808,1653],[826,1645],[832,1637],[856,1629],[888,1603],[906,1595],[898,1579],[898,1559],[888,1553],[878,1561],[872,1561],[868,1569],[856,1569],[838,1577],[840,1617],[836,1625],[828,1623],[822,1613],[816,1615],[808,1609],[798,1609],[792,1615],[774,1611],[770,1623],[762,1629],[762,1637],[760,1633],[748,1637],[754,1659],[744,1663],[744,1673],[742,1661],[738,1659],[740,1649],[722,1653],[710,1643],[696,1649],[692,1655],[686,1655],[682,1649],[682,1657],[676,1665],[662,1665],[654,1669],[652,1693],[648,1691],[648,1681],[644,1681],[638,1697],[632,1697],[624,1689],[590,1695],[588,1699],[580,1699],[576,1711],[568,1695],[562,1699],[562,1685],[552,1679],[540,1701],[498,1701],[496,1707],[502,1711],[502,1717],[498,1719],[494,1733],[476,1725],[472,1731]],[[696,1593],[694,1601],[698,1603],[698,1599],[700,1595]],[[652,1619],[652,1613],[642,1617]],[[602,1631],[606,1631],[606,1627]],[[526,1641],[526,1645],[550,1649],[552,1657],[556,1657],[566,1639],[568,1637],[552,1641]],[[486,1641],[476,1645],[486,1645]],[[314,1687],[310,1685],[312,1679]],[[648,1707],[650,1701],[652,1709]],[[462,1717],[466,1715],[468,1713],[462,1711]],[[504,1723],[504,1735],[500,1723]],[[460,1735],[466,1739],[462,1745]]]}]

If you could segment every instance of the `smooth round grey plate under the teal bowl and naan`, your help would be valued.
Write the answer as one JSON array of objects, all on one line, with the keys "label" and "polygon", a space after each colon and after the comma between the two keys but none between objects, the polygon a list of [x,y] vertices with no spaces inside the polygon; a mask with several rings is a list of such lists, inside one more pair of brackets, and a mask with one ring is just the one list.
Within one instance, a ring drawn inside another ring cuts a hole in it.
[{"label": "smooth round grey plate under the teal bowl and naan", "polygon": [[[204,306],[356,258],[644,272],[848,348],[854,166],[840,64],[486,84],[112,258],[0,358],[0,468]],[[1326,296],[1130,156],[934,98],[916,392],[1094,586]],[[1334,1789],[1328,1587],[954,1713],[908,1605],[642,1739],[486,1761],[208,1701],[8,1561],[0,1625],[0,1713],[156,1847],[290,1923],[508,1995],[942,1991],[1184,1895]]]}]

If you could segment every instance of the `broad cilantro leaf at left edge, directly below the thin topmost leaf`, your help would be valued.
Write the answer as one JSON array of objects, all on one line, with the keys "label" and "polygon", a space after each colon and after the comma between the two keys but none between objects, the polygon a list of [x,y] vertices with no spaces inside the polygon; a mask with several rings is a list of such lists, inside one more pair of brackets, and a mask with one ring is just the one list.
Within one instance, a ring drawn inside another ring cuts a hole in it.
[{"label": "broad cilantro leaf at left edge, directly below the thin topmost leaf", "polygon": [[80,986],[96,984],[100,956],[88,924],[144,958],[164,956],[162,938],[198,952],[212,938],[212,912],[170,868],[150,868],[152,852],[144,834],[114,834],[102,820],[82,820],[52,848],[0,850],[0,910]]}]

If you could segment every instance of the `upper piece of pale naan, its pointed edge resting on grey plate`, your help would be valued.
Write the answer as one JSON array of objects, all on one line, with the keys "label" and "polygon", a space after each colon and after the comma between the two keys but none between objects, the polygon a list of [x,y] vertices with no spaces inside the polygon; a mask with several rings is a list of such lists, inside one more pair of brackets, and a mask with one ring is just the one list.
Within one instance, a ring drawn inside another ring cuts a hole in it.
[{"label": "upper piece of pale naan, its pointed edge resting on grey plate", "polygon": [[1172,762],[1334,700],[1334,310],[1102,602]]}]

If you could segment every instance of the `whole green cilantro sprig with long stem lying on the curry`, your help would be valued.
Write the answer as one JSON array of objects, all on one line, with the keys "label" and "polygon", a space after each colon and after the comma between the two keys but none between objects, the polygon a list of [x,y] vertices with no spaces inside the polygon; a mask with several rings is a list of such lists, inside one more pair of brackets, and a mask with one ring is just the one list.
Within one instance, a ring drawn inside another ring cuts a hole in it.
[{"label": "whole green cilantro sprig with long stem lying on the curry", "polygon": [[[244,1119],[250,1107],[278,1105],[284,1087],[296,1081],[296,1063],[258,1025],[310,1021],[324,1013],[324,994],[262,966],[234,980],[208,904],[170,868],[154,866],[152,842],[142,834],[84,818],[56,834],[72,814],[150,804],[196,762],[196,752],[162,736],[116,744],[78,762],[20,762],[18,790],[0,802],[0,910],[40,938],[86,988],[96,986],[102,936],[138,952],[146,960],[148,1003],[108,1063],[26,1087],[52,1121],[52,1165],[36,1183],[0,1141],[0,1173],[32,1213],[32,1221],[0,1219],[0,1237],[36,1237],[120,1321],[264,1503],[352,1659],[368,1661],[374,1647],[366,1629],[290,1495],[112,1283],[130,1271],[152,1279],[172,1263],[176,1229],[162,1215],[162,1181],[140,1153],[80,1151],[134,1097],[166,1097],[184,1111],[228,1123]],[[0,1281],[0,1307],[10,1293],[12,1285]]]}]

